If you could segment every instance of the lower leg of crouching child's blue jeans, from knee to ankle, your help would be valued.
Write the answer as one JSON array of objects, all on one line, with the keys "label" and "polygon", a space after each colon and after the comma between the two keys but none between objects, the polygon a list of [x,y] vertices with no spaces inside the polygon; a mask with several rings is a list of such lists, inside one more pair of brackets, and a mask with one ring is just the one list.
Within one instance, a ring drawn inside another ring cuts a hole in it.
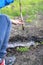
[{"label": "lower leg of crouching child's blue jeans, from knee to ankle", "polygon": [[1,51],[0,51],[1,57],[4,57],[5,54],[6,54],[6,49],[7,49],[8,41],[9,41],[10,28],[11,28],[10,20],[8,18],[6,20],[8,22],[8,26],[7,26],[7,29],[6,29],[6,34],[5,34],[4,42],[3,42],[3,45],[2,45]]}]

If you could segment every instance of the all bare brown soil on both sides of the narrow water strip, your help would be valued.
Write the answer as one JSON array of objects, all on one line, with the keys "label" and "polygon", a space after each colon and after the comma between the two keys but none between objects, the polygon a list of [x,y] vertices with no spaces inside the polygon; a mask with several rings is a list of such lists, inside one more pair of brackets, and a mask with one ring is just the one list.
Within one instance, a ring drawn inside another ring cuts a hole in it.
[{"label": "all bare brown soil on both sides of the narrow water strip", "polygon": [[[29,42],[31,40],[39,43],[43,42],[43,15],[37,17],[38,19],[32,23],[25,22],[24,30],[22,30],[22,25],[12,24],[9,42]],[[26,52],[19,52],[16,48],[7,51],[7,56],[15,55],[16,57],[16,63],[13,65],[43,65],[43,44],[30,47]]]}]

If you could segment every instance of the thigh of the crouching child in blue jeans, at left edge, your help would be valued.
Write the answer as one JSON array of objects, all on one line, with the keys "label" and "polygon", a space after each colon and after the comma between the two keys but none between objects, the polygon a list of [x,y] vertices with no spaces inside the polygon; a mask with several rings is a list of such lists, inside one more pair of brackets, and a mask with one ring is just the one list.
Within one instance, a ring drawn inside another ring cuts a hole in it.
[{"label": "thigh of the crouching child in blue jeans, at left edge", "polygon": [[0,51],[6,34],[8,23],[4,15],[0,15]]}]

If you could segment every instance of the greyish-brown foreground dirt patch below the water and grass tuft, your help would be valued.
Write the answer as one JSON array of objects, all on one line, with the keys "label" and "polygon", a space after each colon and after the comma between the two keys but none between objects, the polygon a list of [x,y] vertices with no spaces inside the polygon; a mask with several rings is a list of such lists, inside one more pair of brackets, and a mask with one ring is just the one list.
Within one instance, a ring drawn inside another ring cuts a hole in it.
[{"label": "greyish-brown foreground dirt patch below the water and grass tuft", "polygon": [[16,56],[14,65],[43,65],[43,45],[39,45],[36,48],[31,47],[27,52],[17,52],[15,49],[10,49],[8,55]]}]

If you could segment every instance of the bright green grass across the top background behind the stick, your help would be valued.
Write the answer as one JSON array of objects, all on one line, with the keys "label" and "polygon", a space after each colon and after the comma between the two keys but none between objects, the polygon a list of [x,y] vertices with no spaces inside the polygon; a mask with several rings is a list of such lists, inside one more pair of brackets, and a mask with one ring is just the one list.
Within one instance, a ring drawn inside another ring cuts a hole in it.
[{"label": "bright green grass across the top background behind the stick", "polygon": [[[35,14],[37,14],[37,13],[43,14],[43,0],[22,0],[21,3],[22,3],[23,16],[32,15],[33,19],[34,19]],[[13,18],[16,16],[20,16],[19,8],[20,8],[19,0],[15,0],[15,2],[12,3],[11,5],[0,9],[0,13],[7,14],[11,18]],[[31,21],[32,17],[29,20]]]}]

